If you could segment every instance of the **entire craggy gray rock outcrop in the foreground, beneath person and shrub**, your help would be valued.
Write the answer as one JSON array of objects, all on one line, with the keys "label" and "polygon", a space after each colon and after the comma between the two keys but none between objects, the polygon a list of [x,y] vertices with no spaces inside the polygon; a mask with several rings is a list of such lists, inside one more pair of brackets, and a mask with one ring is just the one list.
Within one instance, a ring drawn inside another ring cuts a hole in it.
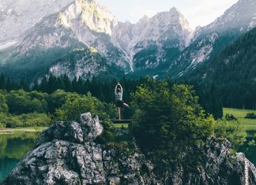
[{"label": "entire craggy gray rock outcrop in the foreground, beneath person and shrub", "polygon": [[[159,174],[144,154],[102,147],[94,140],[103,131],[98,117],[81,114],[79,122],[57,122],[43,131],[33,150],[2,185],[9,184],[244,184],[243,154],[230,154],[227,139],[209,139],[205,163],[197,172],[178,165]],[[184,151],[186,152],[186,151]],[[248,183],[256,183],[256,168],[247,161]]]}]

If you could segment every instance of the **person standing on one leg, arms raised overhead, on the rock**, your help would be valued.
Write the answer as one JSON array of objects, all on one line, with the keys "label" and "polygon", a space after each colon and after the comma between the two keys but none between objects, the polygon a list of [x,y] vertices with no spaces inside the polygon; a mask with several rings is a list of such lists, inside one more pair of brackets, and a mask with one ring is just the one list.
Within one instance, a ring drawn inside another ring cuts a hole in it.
[{"label": "person standing on one leg, arms raised overhead, on the rock", "polygon": [[120,83],[117,83],[115,86],[115,102],[116,102],[116,116],[119,120],[120,117],[120,109],[121,107],[129,107],[125,102],[122,101],[122,86]]}]

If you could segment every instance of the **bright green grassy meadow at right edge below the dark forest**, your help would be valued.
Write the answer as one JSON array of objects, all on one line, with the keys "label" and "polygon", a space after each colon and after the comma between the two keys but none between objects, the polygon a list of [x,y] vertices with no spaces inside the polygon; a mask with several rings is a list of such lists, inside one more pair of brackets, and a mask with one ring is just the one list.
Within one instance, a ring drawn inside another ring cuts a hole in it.
[{"label": "bright green grassy meadow at right edge below the dark forest", "polygon": [[256,131],[256,120],[244,118],[244,117],[246,117],[247,113],[255,113],[256,114],[256,110],[224,108],[223,109],[224,117],[227,113],[233,114],[234,117],[238,118],[239,122],[241,124],[243,124],[243,127],[247,131]]}]

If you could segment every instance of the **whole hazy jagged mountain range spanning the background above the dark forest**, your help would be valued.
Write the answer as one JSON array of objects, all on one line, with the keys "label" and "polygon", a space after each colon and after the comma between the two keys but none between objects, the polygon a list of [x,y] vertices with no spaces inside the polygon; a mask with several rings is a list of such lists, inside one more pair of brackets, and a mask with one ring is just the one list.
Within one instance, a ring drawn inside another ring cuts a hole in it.
[{"label": "whole hazy jagged mountain range spanning the background above the dark forest", "polygon": [[17,34],[12,34],[15,13],[10,10],[15,7],[0,6],[5,15],[0,20],[5,24],[0,31],[1,71],[13,78],[34,80],[50,72],[71,79],[125,73],[181,78],[193,75],[198,67],[207,68],[225,46],[256,25],[254,0],[240,0],[212,24],[195,31],[175,8],[131,24],[119,22],[96,0],[63,1],[58,9],[57,0],[40,2],[44,6],[35,5],[44,7],[43,12],[32,11],[33,21],[24,19]]}]

